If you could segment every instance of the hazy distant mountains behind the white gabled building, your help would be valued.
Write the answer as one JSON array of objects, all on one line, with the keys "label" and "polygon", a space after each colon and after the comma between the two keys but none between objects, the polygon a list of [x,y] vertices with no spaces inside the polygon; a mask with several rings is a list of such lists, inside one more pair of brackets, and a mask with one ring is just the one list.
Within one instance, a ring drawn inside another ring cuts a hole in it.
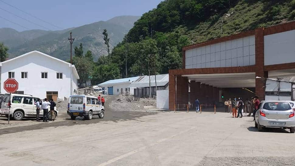
[{"label": "hazy distant mountains behind the white gabled building", "polygon": [[73,48],[80,43],[83,50],[92,51],[95,60],[107,54],[103,41],[102,31],[106,29],[110,38],[110,48],[123,40],[123,37],[132,28],[139,16],[118,16],[107,21],[99,21],[66,30],[26,30],[18,32],[11,28],[0,28],[0,42],[9,47],[9,58],[37,50],[62,60],[68,60],[70,44],[68,37],[72,32],[75,37]]}]

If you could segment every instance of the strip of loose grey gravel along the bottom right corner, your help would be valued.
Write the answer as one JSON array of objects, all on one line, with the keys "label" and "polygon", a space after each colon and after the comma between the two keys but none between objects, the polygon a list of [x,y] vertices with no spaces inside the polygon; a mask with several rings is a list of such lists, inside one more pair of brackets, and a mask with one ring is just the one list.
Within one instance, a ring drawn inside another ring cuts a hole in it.
[{"label": "strip of loose grey gravel along the bottom right corner", "polygon": [[[293,157],[292,157],[293,158]],[[290,157],[204,157],[198,166],[278,166],[295,165]]]}]

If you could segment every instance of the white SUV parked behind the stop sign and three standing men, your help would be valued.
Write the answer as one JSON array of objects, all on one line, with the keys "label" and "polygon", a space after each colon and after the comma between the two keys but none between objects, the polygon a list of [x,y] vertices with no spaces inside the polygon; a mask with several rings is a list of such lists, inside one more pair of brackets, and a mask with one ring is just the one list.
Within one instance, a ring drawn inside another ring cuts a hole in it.
[{"label": "white SUV parked behind the stop sign and three standing men", "polygon": [[[3,97],[0,115],[6,115],[8,118],[9,111],[9,95],[5,94]],[[32,95],[26,94],[11,94],[11,108],[10,116],[15,120],[22,120],[23,118],[36,117],[36,102],[40,99],[39,97],[33,97]],[[42,99],[40,99],[42,101]],[[40,110],[40,117],[43,116],[43,110]],[[57,108],[54,107],[54,116],[58,116]],[[54,118],[55,118],[54,117]],[[51,120],[51,115],[48,115],[48,119]]]}]

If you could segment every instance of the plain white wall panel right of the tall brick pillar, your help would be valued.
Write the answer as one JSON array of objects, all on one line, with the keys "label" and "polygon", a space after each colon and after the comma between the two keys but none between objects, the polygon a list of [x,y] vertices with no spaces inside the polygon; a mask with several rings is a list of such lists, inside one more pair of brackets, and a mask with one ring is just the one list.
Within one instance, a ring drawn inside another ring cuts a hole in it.
[{"label": "plain white wall panel right of the tall brick pillar", "polygon": [[264,65],[295,62],[295,30],[264,36]]}]

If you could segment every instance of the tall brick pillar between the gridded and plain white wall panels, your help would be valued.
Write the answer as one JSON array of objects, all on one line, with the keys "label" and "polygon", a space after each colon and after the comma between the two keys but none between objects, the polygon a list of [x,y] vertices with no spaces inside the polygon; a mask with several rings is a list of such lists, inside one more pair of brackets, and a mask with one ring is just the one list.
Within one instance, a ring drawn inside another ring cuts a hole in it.
[{"label": "tall brick pillar between the gridded and plain white wall panels", "polygon": [[[255,76],[264,77],[264,35],[263,28],[255,30]],[[255,94],[264,100],[264,80],[255,79]]]}]

